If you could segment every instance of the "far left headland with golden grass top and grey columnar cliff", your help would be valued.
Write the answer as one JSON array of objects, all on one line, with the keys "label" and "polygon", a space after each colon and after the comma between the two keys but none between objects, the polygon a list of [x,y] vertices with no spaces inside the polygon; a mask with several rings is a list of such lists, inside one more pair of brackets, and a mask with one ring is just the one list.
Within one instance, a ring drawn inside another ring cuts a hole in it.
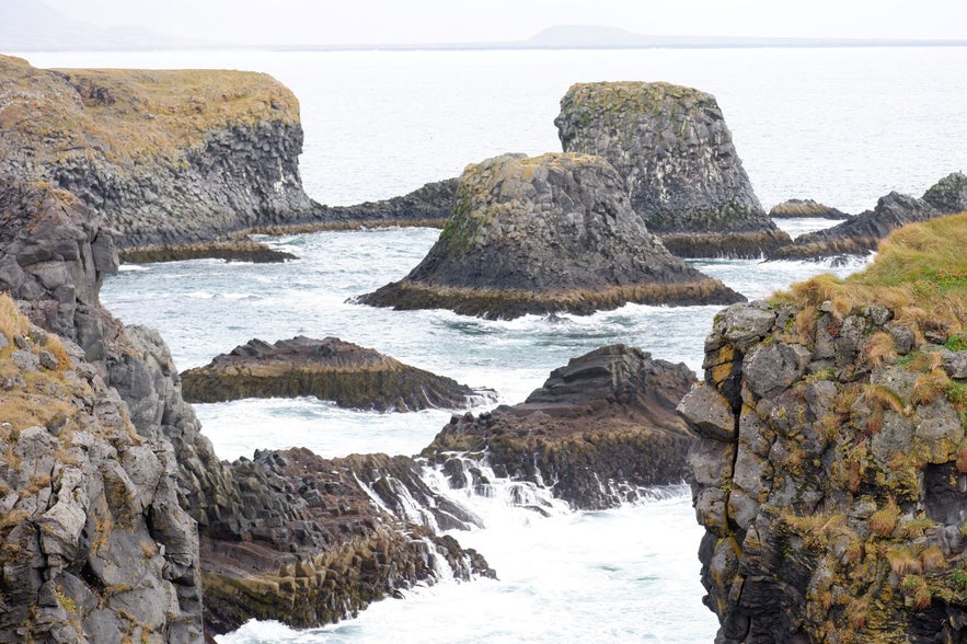
[{"label": "far left headland with golden grass top and grey columnar cliff", "polygon": [[311,218],[299,106],[268,76],[41,70],[0,57],[0,171],[106,216],[122,248]]}]

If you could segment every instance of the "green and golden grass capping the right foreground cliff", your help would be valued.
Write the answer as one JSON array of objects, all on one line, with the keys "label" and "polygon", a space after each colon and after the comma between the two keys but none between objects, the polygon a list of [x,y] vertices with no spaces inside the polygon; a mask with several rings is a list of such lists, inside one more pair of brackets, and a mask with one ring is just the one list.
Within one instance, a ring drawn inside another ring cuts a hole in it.
[{"label": "green and golden grass capping the right foreground cliff", "polygon": [[[877,303],[910,326],[922,343],[924,334],[942,331],[959,338],[967,321],[967,212],[903,227],[879,244],[874,262],[847,278],[820,275],[794,284],[776,301],[819,307],[829,301],[833,318]],[[878,346],[886,359],[888,349]],[[948,340],[947,342],[951,342]],[[953,340],[960,346],[962,340]]]}]

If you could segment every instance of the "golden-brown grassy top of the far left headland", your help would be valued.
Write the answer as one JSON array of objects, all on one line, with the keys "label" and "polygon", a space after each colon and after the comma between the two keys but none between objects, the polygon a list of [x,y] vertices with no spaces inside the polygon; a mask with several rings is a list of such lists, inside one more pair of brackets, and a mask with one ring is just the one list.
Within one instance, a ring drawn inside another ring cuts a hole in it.
[{"label": "golden-brown grassy top of the far left headland", "polygon": [[44,70],[0,56],[0,161],[30,141],[50,161],[95,152],[138,164],[200,146],[211,130],[262,120],[299,120],[295,95],[265,73]]}]

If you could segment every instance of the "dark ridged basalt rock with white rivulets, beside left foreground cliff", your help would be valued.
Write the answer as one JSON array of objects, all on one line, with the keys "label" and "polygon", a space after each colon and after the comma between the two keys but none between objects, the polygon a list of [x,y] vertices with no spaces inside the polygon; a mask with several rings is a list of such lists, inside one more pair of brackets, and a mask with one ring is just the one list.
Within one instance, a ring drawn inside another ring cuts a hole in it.
[{"label": "dark ridged basalt rock with white rivulets, beside left foreground cliff", "polygon": [[406,457],[257,451],[231,472],[254,526],[241,539],[203,539],[215,633],[252,618],[306,628],[355,616],[416,582],[433,583],[437,559],[459,579],[494,576],[476,552],[429,528],[480,522],[429,491]]}]

